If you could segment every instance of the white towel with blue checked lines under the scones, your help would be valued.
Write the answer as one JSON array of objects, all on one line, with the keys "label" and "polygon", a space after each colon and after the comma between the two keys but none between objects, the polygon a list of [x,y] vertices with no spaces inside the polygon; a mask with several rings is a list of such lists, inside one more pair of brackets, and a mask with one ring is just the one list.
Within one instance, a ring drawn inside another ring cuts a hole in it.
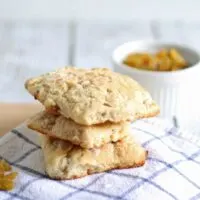
[{"label": "white towel with blue checked lines under the scones", "polygon": [[0,200],[200,199],[200,146],[160,119],[141,120],[133,134],[149,151],[144,167],[113,170],[71,181],[45,176],[37,135],[22,125],[0,139],[0,158],[19,172]]}]

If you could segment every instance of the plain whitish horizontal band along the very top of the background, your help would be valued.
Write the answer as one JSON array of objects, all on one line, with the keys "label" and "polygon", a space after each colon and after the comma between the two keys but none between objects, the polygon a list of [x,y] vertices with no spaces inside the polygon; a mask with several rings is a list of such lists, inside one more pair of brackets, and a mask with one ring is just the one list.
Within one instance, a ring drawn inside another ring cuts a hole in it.
[{"label": "plain whitish horizontal band along the very top of the background", "polygon": [[199,0],[0,0],[0,19],[200,19]]}]

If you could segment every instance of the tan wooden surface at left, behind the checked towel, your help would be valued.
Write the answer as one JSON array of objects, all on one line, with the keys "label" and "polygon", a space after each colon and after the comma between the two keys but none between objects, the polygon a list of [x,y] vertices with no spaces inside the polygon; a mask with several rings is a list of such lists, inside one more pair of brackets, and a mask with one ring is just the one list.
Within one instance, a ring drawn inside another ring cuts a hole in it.
[{"label": "tan wooden surface at left, behind the checked towel", "polygon": [[40,104],[0,104],[0,136],[42,109]]}]

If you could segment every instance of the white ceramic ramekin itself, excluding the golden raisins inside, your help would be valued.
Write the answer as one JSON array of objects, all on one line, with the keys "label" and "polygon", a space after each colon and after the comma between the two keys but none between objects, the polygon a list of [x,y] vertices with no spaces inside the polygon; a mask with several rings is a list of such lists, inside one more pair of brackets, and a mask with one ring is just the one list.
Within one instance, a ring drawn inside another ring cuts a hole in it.
[{"label": "white ceramic ramekin itself, excluding the golden raisins inside", "polygon": [[[139,70],[122,62],[131,52],[154,53],[172,47],[183,55],[190,67],[173,72],[157,72]],[[160,105],[162,117],[187,119],[200,116],[200,54],[194,48],[167,42],[132,41],[116,48],[112,61],[116,72],[131,76],[151,93]]]}]

